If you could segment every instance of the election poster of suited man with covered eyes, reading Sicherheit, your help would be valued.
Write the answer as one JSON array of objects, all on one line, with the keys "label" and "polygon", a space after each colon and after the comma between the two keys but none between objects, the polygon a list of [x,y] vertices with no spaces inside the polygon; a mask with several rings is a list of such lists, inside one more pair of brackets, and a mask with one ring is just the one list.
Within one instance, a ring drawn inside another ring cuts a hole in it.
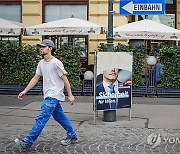
[{"label": "election poster of suited man with covered eyes, reading Sicherheit", "polygon": [[131,108],[133,54],[98,52],[96,58],[96,111]]}]

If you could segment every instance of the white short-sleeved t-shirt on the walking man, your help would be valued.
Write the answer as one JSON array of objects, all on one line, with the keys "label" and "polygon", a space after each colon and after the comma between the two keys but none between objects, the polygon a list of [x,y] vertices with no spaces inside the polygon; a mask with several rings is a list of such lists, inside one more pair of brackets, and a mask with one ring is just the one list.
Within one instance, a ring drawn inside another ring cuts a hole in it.
[{"label": "white short-sleeved t-shirt on the walking man", "polygon": [[64,82],[60,78],[63,74],[67,74],[63,63],[57,58],[53,58],[49,62],[42,59],[37,66],[36,74],[43,77],[43,93],[44,98],[52,97],[60,101],[65,100]]}]

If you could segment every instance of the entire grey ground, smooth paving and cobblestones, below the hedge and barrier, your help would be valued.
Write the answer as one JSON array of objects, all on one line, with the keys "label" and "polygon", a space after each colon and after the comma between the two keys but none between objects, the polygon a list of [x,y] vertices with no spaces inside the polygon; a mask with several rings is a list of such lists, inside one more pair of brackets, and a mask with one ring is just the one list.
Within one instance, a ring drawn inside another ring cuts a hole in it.
[{"label": "entire grey ground, smooth paving and cobblestones, below the hedge and barrier", "polygon": [[[18,153],[13,140],[32,127],[42,96],[0,95],[0,153]],[[104,122],[98,112],[94,125],[93,97],[76,96],[71,106],[62,102],[80,143],[62,147],[64,130],[50,119],[29,153],[179,153],[180,99],[135,97],[131,108],[116,111],[116,122]]]}]

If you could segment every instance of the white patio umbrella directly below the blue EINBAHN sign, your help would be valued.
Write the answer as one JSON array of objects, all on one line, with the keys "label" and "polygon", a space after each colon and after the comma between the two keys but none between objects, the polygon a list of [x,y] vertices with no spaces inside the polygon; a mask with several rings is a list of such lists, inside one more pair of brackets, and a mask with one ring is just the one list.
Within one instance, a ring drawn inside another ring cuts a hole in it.
[{"label": "white patio umbrella directly below the blue EINBAHN sign", "polygon": [[180,30],[144,19],[114,28],[114,36],[122,39],[180,40]]}]

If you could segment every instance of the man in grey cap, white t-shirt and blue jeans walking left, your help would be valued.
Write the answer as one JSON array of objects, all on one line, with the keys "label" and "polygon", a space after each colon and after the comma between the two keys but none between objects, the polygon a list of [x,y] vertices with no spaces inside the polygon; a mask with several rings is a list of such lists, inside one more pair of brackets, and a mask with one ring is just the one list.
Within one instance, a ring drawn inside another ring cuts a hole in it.
[{"label": "man in grey cap, white t-shirt and blue jeans walking left", "polygon": [[51,40],[45,39],[37,45],[40,47],[40,54],[43,59],[38,63],[36,74],[27,87],[19,93],[18,98],[22,99],[23,96],[35,86],[39,78],[42,76],[44,100],[41,103],[39,114],[37,115],[35,123],[28,135],[23,140],[15,140],[16,145],[21,151],[27,151],[33,145],[51,115],[67,132],[67,138],[62,140],[61,144],[70,145],[78,142],[76,132],[60,105],[60,101],[65,100],[63,93],[64,86],[68,93],[69,103],[73,105],[75,101],[66,76],[67,72],[64,69],[62,62],[52,55],[54,43]]}]

